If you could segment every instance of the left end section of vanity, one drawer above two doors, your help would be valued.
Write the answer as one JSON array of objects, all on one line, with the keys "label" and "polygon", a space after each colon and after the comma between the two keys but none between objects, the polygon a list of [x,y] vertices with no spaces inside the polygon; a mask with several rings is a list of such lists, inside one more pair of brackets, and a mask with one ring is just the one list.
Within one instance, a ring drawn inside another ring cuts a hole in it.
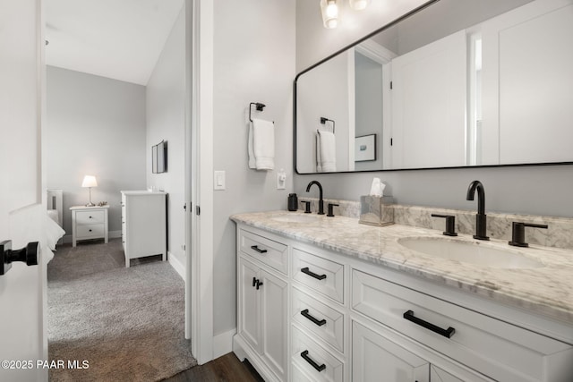
[{"label": "left end section of vanity, one drawer above two doors", "polygon": [[238,232],[237,334],[234,351],[262,370],[265,380],[287,380],[287,246]]}]

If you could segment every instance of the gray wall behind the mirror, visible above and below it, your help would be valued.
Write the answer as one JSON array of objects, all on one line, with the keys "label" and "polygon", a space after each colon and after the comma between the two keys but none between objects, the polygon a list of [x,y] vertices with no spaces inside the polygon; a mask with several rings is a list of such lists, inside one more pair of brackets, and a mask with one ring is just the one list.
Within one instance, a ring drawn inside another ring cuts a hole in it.
[{"label": "gray wall behind the mirror, visible above and below it", "polygon": [[[382,13],[377,17],[370,12],[351,14],[352,21],[360,28],[347,27],[329,33],[331,30],[322,27],[320,11],[315,5],[296,0],[297,72],[360,38],[365,31],[377,29],[388,19]],[[374,176],[388,184],[386,191],[399,203],[474,209],[475,202],[466,201],[466,189],[471,181],[478,179],[485,186],[486,210],[573,217],[571,165],[295,175],[295,192],[305,194],[306,184],[316,179],[324,186],[325,198],[357,200],[370,191]]]}]

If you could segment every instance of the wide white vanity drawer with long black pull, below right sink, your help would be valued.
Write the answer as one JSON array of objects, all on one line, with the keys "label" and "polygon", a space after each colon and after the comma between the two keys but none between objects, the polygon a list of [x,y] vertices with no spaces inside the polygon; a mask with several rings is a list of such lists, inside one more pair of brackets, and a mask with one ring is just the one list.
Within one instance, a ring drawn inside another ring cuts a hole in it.
[{"label": "wide white vanity drawer with long black pull, below right sink", "polygon": [[[545,380],[552,365],[573,357],[568,344],[357,270],[351,303],[353,310],[498,380]],[[406,312],[417,322],[406,319]],[[434,331],[449,328],[450,337]]]}]

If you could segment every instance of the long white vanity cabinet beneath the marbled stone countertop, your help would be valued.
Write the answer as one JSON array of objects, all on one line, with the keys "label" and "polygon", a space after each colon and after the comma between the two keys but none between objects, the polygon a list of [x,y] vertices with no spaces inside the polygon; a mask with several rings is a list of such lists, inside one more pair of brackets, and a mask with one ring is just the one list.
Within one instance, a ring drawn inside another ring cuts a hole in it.
[{"label": "long white vanity cabinet beneath the marbled stone countertop", "polygon": [[570,324],[249,225],[237,240],[234,350],[265,380],[573,381]]}]

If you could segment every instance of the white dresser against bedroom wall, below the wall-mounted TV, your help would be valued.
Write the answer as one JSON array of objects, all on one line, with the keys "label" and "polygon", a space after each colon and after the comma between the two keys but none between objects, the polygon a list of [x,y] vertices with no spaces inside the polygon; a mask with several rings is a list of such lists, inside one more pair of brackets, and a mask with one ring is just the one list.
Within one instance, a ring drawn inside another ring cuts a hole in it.
[{"label": "white dresser against bedroom wall, below the wall-mounted TV", "polygon": [[165,192],[122,192],[122,243],[125,267],[130,259],[162,255],[167,259],[167,214]]}]

